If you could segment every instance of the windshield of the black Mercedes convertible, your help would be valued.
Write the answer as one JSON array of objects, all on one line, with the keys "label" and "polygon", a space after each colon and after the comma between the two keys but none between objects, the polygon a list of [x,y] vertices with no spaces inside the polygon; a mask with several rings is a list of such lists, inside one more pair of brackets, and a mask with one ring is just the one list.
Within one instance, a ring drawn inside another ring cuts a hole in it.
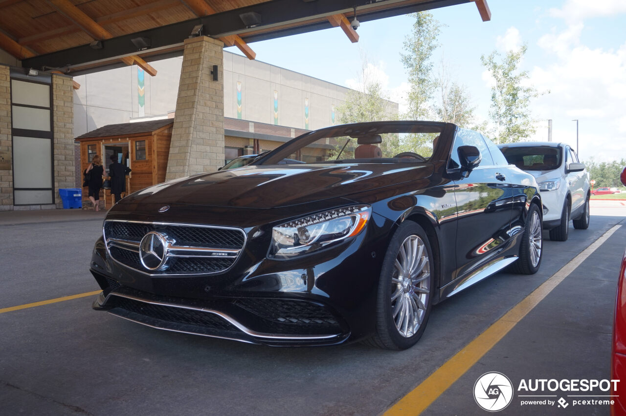
[{"label": "windshield of the black Mercedes convertible", "polygon": [[285,143],[260,164],[423,163],[433,155],[443,127],[436,122],[380,122],[322,129]]}]

